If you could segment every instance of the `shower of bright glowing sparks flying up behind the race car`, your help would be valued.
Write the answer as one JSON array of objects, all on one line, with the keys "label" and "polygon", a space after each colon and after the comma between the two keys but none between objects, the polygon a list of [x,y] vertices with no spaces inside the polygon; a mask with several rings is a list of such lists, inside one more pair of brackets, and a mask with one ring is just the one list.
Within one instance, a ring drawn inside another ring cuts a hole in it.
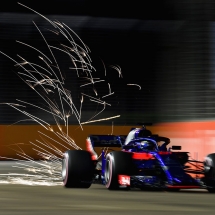
[{"label": "shower of bright glowing sparks flying up behind the race car", "polygon": [[[46,40],[39,26],[37,26],[37,24],[33,21],[35,28],[38,30],[42,40],[44,41],[44,44],[49,51],[49,57],[47,56],[47,54],[35,48],[34,46],[21,41],[16,42],[29,48],[31,51],[36,52],[38,55],[37,60],[41,62],[40,65],[38,63],[29,61],[28,59],[25,59],[18,54],[17,57],[19,58],[19,60],[15,60],[6,53],[0,51],[2,55],[9,58],[13,63],[15,63],[15,67],[21,69],[21,71],[17,73],[18,76],[42,99],[43,107],[39,107],[35,104],[18,99],[16,100],[16,103],[4,104],[9,105],[10,107],[24,114],[27,117],[26,121],[32,120],[41,125],[42,128],[45,129],[45,131],[51,132],[52,134],[51,137],[51,135],[49,136],[45,132],[38,131],[40,139],[37,139],[34,142],[30,141],[32,149],[37,155],[41,157],[39,161],[36,161],[34,160],[34,158],[27,155],[20,146],[18,146],[19,150],[16,151],[17,155],[20,157],[20,160],[4,158],[8,160],[14,160],[16,162],[16,165],[14,165],[13,167],[28,171],[30,174],[0,174],[0,183],[19,183],[47,186],[61,185],[61,162],[63,153],[68,149],[81,149],[76,144],[75,140],[73,140],[68,135],[69,119],[71,117],[75,117],[77,123],[79,124],[79,127],[83,129],[82,125],[84,124],[104,120],[112,120],[114,118],[120,117],[120,115],[95,119],[105,110],[106,106],[111,106],[111,104],[107,103],[104,98],[113,95],[114,92],[111,91],[111,86],[109,83],[106,84],[107,90],[109,92],[108,94],[99,95],[99,92],[97,92],[96,84],[99,82],[105,82],[105,80],[93,77],[93,73],[96,71],[96,69],[92,65],[92,60],[89,55],[90,50],[80,39],[80,37],[65,23],[61,23],[56,20],[52,21],[42,14],[38,13],[37,11],[34,11],[33,9],[21,3],[18,4],[45,19],[50,24],[51,28],[46,30],[48,30],[50,33],[53,33],[54,35],[63,36],[67,44],[59,44],[59,47],[50,45],[49,41]],[[78,40],[78,42],[75,42],[75,39]],[[85,83],[79,86],[80,89],[84,89],[89,85],[92,86],[92,92],[94,94],[88,95],[81,92],[81,99],[78,105],[73,102],[71,92],[65,88],[65,77],[63,76],[64,73],[59,66],[57,57],[54,55],[54,51],[58,51],[62,55],[65,54],[70,58],[71,66],[68,69],[72,73],[75,72],[77,78],[85,80]],[[106,76],[106,67],[103,61],[102,63],[105,69]],[[119,78],[122,78],[121,68],[118,65],[110,67],[118,72]],[[55,99],[52,99],[52,95],[55,95]],[[87,99],[88,101],[97,103],[98,106],[101,106],[101,110],[98,111],[98,113],[92,116],[89,120],[82,121],[82,107],[84,105],[84,101]],[[57,129],[54,129],[52,125],[50,125],[44,119],[27,112],[27,106],[34,107],[41,112],[50,114],[57,125]],[[53,135],[55,136],[55,138],[53,138]]]}]

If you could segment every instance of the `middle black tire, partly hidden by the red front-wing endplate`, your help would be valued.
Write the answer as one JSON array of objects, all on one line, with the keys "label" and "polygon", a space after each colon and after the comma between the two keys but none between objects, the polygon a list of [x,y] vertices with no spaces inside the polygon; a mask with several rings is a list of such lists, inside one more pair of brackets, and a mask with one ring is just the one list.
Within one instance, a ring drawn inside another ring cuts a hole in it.
[{"label": "middle black tire, partly hidden by the red front-wing endplate", "polygon": [[[132,157],[130,153],[122,151],[114,151],[106,156],[105,165],[105,184],[109,190],[117,190],[120,188],[118,182],[118,175],[132,174]],[[124,189],[129,189],[130,186],[124,187]]]}]

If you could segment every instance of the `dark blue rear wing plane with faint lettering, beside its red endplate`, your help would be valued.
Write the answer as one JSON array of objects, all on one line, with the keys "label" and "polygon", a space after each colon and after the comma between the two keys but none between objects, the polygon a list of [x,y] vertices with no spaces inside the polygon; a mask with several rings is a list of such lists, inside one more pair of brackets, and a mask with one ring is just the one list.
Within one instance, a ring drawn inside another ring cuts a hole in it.
[{"label": "dark blue rear wing plane with faint lettering, beside its red endplate", "polygon": [[90,135],[88,137],[94,147],[122,147],[125,135]]}]

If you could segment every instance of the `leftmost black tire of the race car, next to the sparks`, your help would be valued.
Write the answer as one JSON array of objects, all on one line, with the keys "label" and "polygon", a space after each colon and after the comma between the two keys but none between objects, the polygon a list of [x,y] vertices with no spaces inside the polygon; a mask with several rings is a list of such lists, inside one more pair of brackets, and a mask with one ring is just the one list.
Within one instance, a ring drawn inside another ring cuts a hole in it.
[{"label": "leftmost black tire of the race car, next to the sparks", "polygon": [[85,150],[68,150],[62,161],[62,179],[67,188],[89,188],[94,168],[91,154]]}]

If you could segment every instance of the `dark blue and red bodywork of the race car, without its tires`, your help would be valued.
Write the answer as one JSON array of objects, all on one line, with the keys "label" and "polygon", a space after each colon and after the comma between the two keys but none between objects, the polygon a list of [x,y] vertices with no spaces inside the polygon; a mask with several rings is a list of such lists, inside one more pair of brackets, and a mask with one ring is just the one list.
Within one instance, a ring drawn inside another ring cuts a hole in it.
[{"label": "dark blue and red bodywork of the race car, without its tires", "polygon": [[[198,165],[192,168],[192,163],[196,164],[197,161],[190,161],[188,152],[180,152],[179,146],[167,148],[169,143],[169,138],[153,135],[145,127],[131,129],[126,136],[90,135],[87,139],[87,150],[91,152],[96,163],[95,181],[100,180],[104,185],[107,184],[106,158],[116,150],[130,157],[129,161],[122,161],[129,162],[126,165],[130,170],[119,172],[119,176],[125,175],[129,178],[129,187],[169,190],[209,188],[214,191],[215,180],[205,177],[204,162],[198,162]],[[100,155],[96,149],[101,150]],[[122,163],[114,161],[112,165],[115,165],[112,168],[116,169],[116,165],[121,166]],[[195,174],[195,177],[192,174]],[[119,181],[119,187],[120,185],[123,184]]]}]

